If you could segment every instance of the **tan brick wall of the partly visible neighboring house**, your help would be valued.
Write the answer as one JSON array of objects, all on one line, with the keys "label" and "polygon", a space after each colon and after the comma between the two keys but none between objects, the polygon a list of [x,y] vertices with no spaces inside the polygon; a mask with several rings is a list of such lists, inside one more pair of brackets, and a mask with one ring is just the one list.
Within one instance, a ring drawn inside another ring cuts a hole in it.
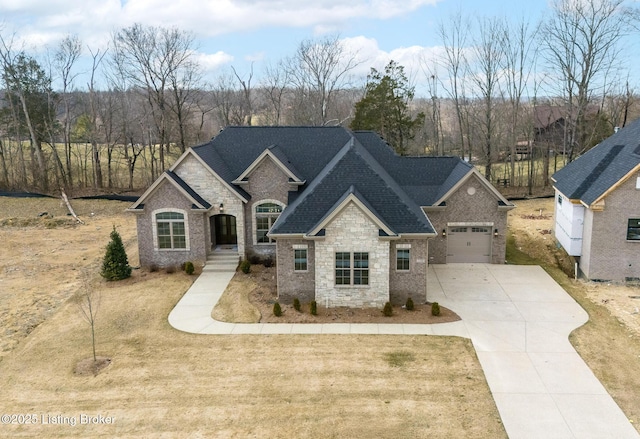
[{"label": "tan brick wall of the partly visible neighboring house", "polygon": [[640,278],[640,241],[627,240],[628,220],[640,218],[637,177],[607,195],[604,210],[586,210],[579,264],[588,279],[635,282]]}]

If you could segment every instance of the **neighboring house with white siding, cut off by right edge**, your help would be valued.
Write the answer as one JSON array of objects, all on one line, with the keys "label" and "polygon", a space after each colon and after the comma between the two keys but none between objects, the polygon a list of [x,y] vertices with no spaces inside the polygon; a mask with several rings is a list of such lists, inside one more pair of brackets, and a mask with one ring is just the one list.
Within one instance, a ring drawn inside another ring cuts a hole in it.
[{"label": "neighboring house with white siding, cut off by right edge", "polygon": [[581,276],[640,280],[640,119],[556,172],[555,236]]}]

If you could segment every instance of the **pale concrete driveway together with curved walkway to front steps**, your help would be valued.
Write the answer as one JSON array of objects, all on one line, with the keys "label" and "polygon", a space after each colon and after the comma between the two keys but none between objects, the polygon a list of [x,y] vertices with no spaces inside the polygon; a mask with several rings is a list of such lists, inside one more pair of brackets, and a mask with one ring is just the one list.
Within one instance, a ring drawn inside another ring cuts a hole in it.
[{"label": "pale concrete driveway together with curved walkway to front steps", "polygon": [[419,324],[223,323],[211,318],[234,273],[203,273],[169,314],[198,334],[424,334],[470,338],[511,439],[640,438],[582,361],[569,333],[586,312],[537,266],[429,268],[428,300],[462,318]]}]

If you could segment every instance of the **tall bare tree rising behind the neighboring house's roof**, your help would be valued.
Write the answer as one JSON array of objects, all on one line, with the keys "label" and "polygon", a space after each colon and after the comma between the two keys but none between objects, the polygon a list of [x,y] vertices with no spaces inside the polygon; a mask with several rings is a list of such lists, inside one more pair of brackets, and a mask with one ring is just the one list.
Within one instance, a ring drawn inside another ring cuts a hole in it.
[{"label": "tall bare tree rising behind the neighboring house's roof", "polygon": [[621,40],[638,19],[638,9],[626,7],[624,0],[556,0],[542,26],[546,59],[565,99],[569,160],[593,143],[588,106],[595,94],[602,95],[606,73],[620,66]]}]

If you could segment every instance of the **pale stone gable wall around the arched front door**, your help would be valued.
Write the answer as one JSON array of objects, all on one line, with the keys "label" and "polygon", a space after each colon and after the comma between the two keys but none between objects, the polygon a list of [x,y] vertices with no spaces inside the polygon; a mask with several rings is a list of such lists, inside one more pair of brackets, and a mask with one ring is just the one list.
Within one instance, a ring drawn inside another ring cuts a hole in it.
[{"label": "pale stone gable wall around the arched front door", "polygon": [[[224,213],[236,217],[236,232],[238,235],[238,253],[240,256],[245,254],[245,221],[244,206],[238,196],[231,192],[225,184],[206,169],[198,159],[193,155],[187,155],[174,169],[174,172],[182,178],[189,186],[193,188],[202,198],[213,205],[210,216],[220,213],[219,206],[224,206]],[[170,206],[167,203],[167,206]],[[204,242],[211,248],[215,240],[215,233],[211,230],[212,222],[206,219],[206,236]]]}]

